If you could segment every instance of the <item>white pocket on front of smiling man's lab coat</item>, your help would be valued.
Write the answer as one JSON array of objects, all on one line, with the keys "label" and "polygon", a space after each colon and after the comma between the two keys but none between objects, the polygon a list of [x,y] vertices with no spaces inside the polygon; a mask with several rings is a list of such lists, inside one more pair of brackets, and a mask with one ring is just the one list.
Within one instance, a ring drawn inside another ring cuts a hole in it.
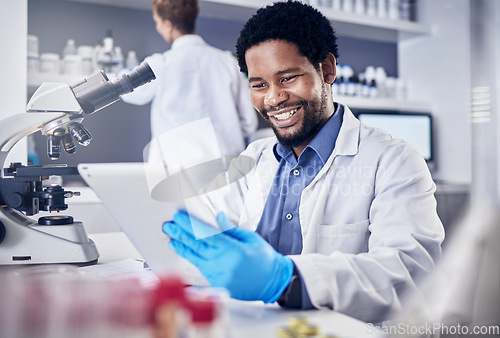
[{"label": "white pocket on front of smiling man's lab coat", "polygon": [[317,252],[329,255],[334,251],[361,253],[368,251],[369,220],[350,224],[318,225]]}]

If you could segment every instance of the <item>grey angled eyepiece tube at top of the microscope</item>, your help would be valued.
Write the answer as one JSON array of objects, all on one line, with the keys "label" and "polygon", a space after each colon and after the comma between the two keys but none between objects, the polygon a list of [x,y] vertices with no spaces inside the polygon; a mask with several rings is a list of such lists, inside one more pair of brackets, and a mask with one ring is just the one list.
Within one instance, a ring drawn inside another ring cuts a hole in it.
[{"label": "grey angled eyepiece tube at top of the microscope", "polygon": [[149,65],[142,63],[129,74],[124,74],[113,82],[108,79],[106,73],[100,71],[71,89],[83,112],[92,114],[120,99],[120,95],[130,93],[155,78]]}]

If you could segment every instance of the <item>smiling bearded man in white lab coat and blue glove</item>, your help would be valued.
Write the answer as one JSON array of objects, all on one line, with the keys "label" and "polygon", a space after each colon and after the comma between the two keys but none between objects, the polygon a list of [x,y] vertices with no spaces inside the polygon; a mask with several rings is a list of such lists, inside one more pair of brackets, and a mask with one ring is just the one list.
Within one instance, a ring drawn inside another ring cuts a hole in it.
[{"label": "smiling bearded man in white lab coat and blue glove", "polygon": [[208,197],[228,230],[196,239],[203,224],[180,212],[163,227],[170,245],[234,298],[388,319],[441,254],[425,161],[333,100],[336,37],[313,7],[257,11],[237,58],[276,137],[252,143],[226,174],[235,184]]}]

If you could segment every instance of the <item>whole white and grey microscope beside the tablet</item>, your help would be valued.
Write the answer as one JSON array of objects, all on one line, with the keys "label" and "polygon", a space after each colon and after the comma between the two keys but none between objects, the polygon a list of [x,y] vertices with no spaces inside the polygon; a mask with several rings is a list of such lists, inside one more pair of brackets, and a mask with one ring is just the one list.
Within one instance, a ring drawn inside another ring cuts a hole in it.
[{"label": "whole white and grey microscope beside the tablet", "polygon": [[74,153],[74,141],[89,145],[91,136],[81,124],[84,116],[154,79],[149,65],[142,63],[114,81],[100,71],[73,86],[43,83],[29,100],[26,112],[0,121],[0,265],[97,262],[99,253],[82,222],[63,215],[38,220],[29,217],[68,208],[65,199],[79,193],[59,185],[44,188],[42,181],[52,175],[78,175],[77,168],[21,163],[4,168],[5,161],[17,142],[37,131],[47,136],[51,159],[57,159],[62,149]]}]

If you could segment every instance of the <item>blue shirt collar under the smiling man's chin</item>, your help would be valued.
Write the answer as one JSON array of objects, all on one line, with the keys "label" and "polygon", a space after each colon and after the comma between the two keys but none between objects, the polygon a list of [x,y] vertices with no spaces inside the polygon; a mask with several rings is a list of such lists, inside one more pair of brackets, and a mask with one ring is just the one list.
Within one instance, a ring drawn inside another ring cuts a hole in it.
[{"label": "blue shirt collar under the smiling man's chin", "polygon": [[[321,128],[318,134],[316,134],[302,152],[302,154],[305,154],[307,149],[311,149],[318,154],[323,164],[326,163],[326,160],[330,157],[335,148],[335,142],[342,125],[344,114],[343,106],[338,103],[335,103],[335,106],[336,109],[332,117],[330,117],[323,128]],[[274,145],[273,152],[278,162],[281,161],[282,158],[287,159],[293,156],[292,148],[282,145],[279,141]]]}]

